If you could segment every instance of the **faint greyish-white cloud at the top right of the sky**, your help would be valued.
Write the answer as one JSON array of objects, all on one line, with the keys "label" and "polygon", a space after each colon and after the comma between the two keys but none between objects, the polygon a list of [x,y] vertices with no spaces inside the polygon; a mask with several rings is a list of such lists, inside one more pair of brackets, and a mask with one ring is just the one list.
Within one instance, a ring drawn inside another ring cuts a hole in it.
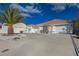
[{"label": "faint greyish-white cloud at the top right of the sky", "polygon": [[52,10],[53,11],[63,11],[66,9],[66,6],[69,6],[70,7],[76,7],[76,8],[79,8],[79,4],[78,3],[53,3],[51,4],[52,6]]}]

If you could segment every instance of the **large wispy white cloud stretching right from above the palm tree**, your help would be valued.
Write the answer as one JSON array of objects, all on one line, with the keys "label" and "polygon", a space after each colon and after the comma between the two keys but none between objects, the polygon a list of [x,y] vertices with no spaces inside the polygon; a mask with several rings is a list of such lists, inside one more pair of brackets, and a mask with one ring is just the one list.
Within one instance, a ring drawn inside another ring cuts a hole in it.
[{"label": "large wispy white cloud stretching right from above the palm tree", "polygon": [[19,4],[11,4],[10,7],[18,8],[20,11],[23,11],[26,13],[41,13],[41,11],[37,9],[37,7],[34,8],[34,4],[31,4],[31,6],[26,5],[25,8]]}]

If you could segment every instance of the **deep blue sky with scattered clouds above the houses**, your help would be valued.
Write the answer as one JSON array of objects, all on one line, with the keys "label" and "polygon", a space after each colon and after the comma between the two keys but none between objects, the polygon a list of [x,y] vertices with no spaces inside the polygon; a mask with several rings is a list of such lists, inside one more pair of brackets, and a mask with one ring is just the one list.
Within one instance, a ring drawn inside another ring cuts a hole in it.
[{"label": "deep blue sky with scattered clouds above the houses", "polygon": [[25,17],[25,24],[40,24],[49,20],[76,20],[79,4],[76,3],[4,3],[0,4],[0,10],[18,8]]}]

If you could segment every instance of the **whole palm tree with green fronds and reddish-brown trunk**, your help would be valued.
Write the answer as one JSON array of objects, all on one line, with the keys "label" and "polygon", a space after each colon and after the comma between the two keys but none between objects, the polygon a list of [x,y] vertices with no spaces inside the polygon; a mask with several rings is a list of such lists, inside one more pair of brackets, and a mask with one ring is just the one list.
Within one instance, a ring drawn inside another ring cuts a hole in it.
[{"label": "whole palm tree with green fronds and reddish-brown trunk", "polygon": [[21,15],[18,9],[9,8],[2,12],[0,19],[4,21],[8,26],[8,34],[13,34],[14,33],[13,24],[21,22],[23,16]]}]

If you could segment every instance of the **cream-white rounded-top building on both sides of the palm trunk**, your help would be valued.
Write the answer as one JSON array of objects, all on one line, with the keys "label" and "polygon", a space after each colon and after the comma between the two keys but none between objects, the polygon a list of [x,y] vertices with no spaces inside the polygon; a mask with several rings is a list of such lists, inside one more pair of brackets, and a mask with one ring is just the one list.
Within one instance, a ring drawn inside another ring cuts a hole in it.
[{"label": "cream-white rounded-top building on both sides of the palm trunk", "polygon": [[[26,24],[17,23],[13,25],[14,33],[24,33],[26,30]],[[0,33],[8,33],[8,26],[6,23],[2,24],[2,28],[0,28]]]}]

